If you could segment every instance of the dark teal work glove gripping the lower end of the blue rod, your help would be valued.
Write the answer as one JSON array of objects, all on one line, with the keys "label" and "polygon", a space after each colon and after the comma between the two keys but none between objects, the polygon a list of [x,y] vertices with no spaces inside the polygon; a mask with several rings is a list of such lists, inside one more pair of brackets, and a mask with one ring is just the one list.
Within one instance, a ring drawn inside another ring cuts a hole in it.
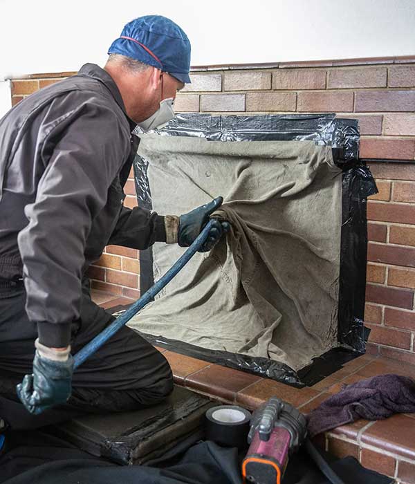
[{"label": "dark teal work glove gripping the lower end of the blue rod", "polygon": [[17,395],[30,413],[42,411],[54,405],[65,403],[71,396],[73,357],[59,362],[49,360],[35,353],[33,374],[26,375],[23,382],[17,385]]}]

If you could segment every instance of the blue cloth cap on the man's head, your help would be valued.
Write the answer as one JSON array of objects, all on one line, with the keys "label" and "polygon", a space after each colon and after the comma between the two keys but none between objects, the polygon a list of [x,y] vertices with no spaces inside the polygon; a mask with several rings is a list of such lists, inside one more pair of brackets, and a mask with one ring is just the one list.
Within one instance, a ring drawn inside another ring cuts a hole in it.
[{"label": "blue cloth cap on the man's head", "polygon": [[125,55],[181,82],[190,82],[190,41],[174,21],[161,15],[145,15],[129,22],[108,53]]}]

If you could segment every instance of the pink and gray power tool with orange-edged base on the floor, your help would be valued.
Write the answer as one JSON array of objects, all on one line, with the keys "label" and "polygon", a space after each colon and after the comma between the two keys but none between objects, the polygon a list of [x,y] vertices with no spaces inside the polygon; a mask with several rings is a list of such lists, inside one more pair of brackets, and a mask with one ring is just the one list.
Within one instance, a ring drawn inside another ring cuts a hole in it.
[{"label": "pink and gray power tool with orange-edged base on the floor", "polygon": [[305,416],[291,404],[271,397],[252,415],[248,454],[243,459],[244,484],[281,484],[288,457],[307,435]]}]

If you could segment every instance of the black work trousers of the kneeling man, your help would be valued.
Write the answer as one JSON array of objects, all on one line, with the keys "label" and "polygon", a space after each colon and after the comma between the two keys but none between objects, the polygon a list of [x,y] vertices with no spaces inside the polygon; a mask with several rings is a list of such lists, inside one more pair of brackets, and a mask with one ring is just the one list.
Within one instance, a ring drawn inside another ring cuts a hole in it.
[{"label": "black work trousers of the kneeling man", "polygon": [[[33,416],[16,393],[16,385],[32,373],[37,338],[36,325],[26,316],[25,301],[24,288],[0,293],[0,418],[11,429],[35,429],[85,412],[136,410],[157,404],[172,392],[172,370],[165,357],[124,326],[75,370],[66,404]],[[71,353],[75,355],[113,319],[91,301],[84,284]]]}]

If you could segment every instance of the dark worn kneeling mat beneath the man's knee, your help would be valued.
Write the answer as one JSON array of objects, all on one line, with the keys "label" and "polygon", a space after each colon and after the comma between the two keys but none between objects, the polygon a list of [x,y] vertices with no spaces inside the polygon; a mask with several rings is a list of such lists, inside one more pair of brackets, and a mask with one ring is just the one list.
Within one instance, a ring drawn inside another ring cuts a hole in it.
[{"label": "dark worn kneeling mat beneath the man's knee", "polygon": [[212,405],[208,398],[175,386],[172,395],[154,407],[82,416],[48,431],[94,456],[124,465],[145,464],[182,441],[190,446],[199,440],[205,411]]}]

